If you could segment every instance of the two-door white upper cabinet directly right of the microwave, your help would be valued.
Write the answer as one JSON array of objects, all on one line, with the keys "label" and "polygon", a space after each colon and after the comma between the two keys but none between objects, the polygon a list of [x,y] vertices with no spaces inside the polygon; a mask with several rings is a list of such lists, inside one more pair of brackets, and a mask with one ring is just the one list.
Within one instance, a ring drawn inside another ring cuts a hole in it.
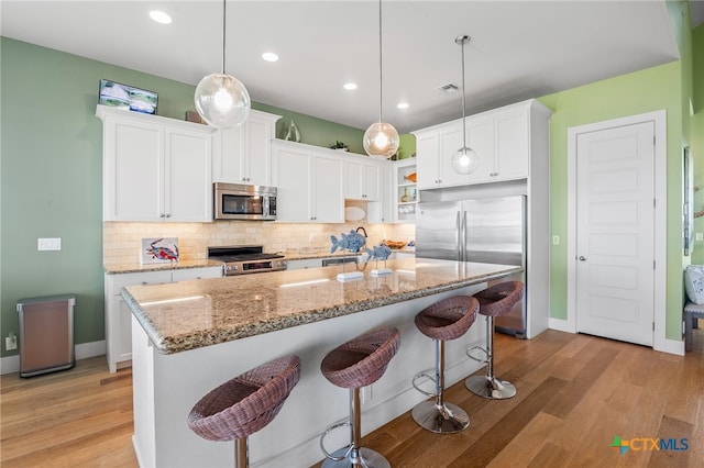
[{"label": "two-door white upper cabinet directly right of the microwave", "polygon": [[275,142],[278,222],[344,222],[343,159],[329,149]]}]

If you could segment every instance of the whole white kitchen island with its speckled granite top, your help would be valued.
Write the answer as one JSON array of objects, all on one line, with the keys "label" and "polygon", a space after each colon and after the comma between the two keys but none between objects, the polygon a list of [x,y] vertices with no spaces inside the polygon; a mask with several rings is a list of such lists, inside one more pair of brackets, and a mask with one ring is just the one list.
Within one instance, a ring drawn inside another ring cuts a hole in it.
[{"label": "whole white kitchen island with its speckled granite top", "polygon": [[[402,345],[384,377],[362,391],[362,425],[369,433],[410,410],[425,397],[411,387],[414,375],[435,365],[432,341],[418,332],[414,316],[455,294],[472,294],[490,280],[520,267],[400,259],[393,274],[339,282],[342,267],[311,268],[130,286],[122,291],[132,311],[134,448],[143,467],[232,466],[230,443],[204,441],[186,417],[208,391],[260,364],[286,354],[301,359],[301,377],[280,413],[250,437],[252,466],[307,467],[322,459],[318,437],[349,414],[348,390],[320,374],[324,355],[369,330],[396,326]],[[348,270],[352,266],[345,267]],[[464,355],[483,345],[484,319],[449,342],[446,382],[480,365]],[[332,449],[346,444],[348,431],[328,437]]]}]

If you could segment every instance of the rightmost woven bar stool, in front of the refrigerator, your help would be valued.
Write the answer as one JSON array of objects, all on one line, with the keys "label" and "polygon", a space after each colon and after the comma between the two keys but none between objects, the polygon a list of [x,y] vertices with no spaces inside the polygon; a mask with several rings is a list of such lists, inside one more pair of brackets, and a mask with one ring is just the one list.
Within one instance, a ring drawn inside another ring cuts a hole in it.
[{"label": "rightmost woven bar stool, in front of the refrigerator", "polygon": [[[480,314],[486,315],[486,348],[473,346],[466,355],[477,363],[486,364],[486,376],[472,376],[464,381],[464,386],[472,393],[491,400],[504,400],[516,394],[516,387],[506,380],[494,376],[494,317],[507,314],[524,297],[524,283],[506,281],[477,292],[474,297],[480,301]],[[480,349],[484,358],[472,355]]]}]

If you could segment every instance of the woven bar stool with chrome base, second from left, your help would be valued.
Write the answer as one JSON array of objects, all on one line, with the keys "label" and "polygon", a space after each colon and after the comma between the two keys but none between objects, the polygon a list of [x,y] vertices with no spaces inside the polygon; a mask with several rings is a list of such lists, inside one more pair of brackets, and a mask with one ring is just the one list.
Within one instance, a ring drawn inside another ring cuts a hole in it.
[{"label": "woven bar stool with chrome base, second from left", "polygon": [[[320,436],[320,448],[326,455],[322,466],[328,467],[389,467],[388,460],[371,448],[361,447],[362,423],[360,388],[377,381],[396,355],[400,333],[383,327],[365,333],[334,348],[320,363],[322,375],[331,383],[350,389],[350,420],[334,424]],[[333,430],[350,426],[350,444],[332,454],[324,448],[324,438]]]}]

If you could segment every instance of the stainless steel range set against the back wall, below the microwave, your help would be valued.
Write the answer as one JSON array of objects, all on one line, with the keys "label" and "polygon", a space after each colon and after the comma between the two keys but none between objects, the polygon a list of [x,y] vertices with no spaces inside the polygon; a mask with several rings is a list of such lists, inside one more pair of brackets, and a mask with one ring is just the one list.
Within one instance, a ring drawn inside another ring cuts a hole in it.
[{"label": "stainless steel range set against the back wall, below the microwave", "polygon": [[261,245],[232,245],[208,247],[208,259],[222,261],[224,276],[286,269],[286,260],[280,254],[265,254]]}]

